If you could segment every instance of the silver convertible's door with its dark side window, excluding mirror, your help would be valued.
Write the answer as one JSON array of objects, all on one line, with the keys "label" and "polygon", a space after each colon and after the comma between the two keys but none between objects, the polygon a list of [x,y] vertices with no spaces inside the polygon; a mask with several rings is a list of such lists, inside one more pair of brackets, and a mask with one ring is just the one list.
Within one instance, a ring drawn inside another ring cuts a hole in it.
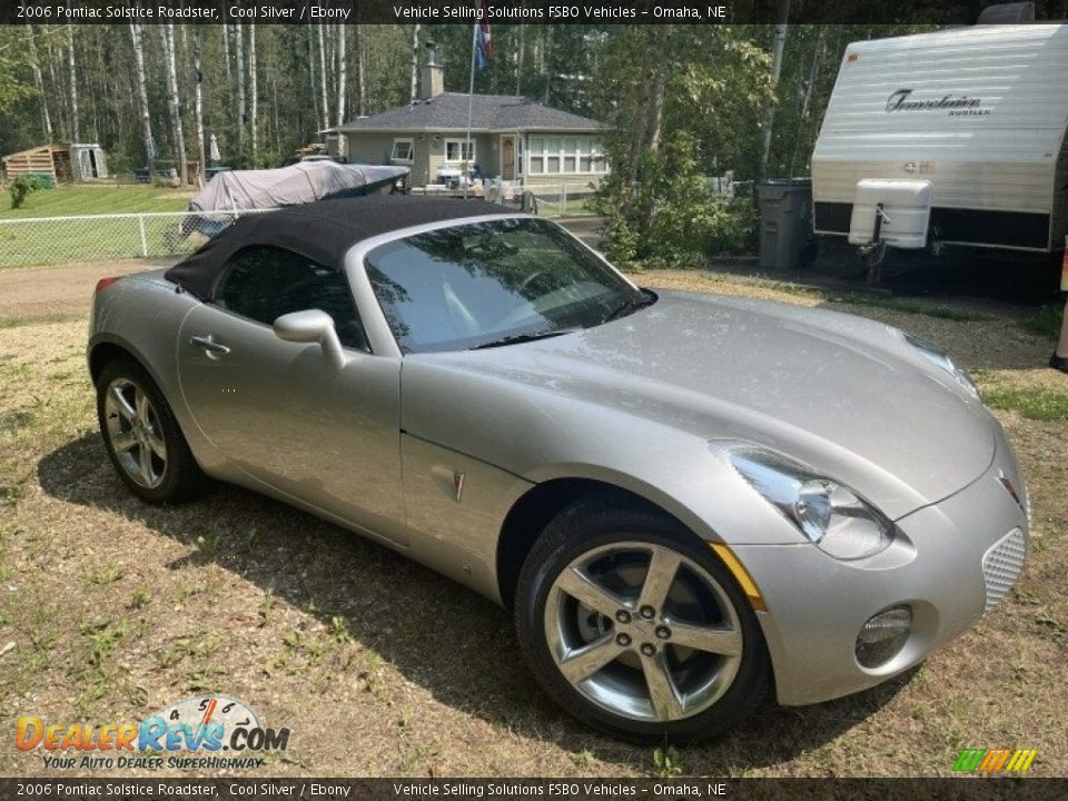
[{"label": "silver convertible's door with its dark side window, excluding mirror", "polygon": [[[275,335],[275,319],[309,308],[334,318],[348,357],[343,368],[317,343]],[[405,542],[400,360],[369,353],[344,271],[277,247],[239,251],[211,298],[184,320],[178,370],[196,424],[234,466]]]}]

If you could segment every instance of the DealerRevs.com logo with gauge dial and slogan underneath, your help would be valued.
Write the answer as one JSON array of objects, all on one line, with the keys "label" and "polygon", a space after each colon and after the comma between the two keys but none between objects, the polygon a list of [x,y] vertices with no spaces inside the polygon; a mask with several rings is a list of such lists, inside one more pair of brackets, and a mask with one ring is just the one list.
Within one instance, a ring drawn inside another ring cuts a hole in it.
[{"label": "DealerRevs.com logo with gauge dial and slogan underneath", "polygon": [[289,734],[260,724],[244,701],[195,695],[140,722],[68,725],[21,715],[14,746],[43,751],[44,767],[56,770],[235,769],[261,767],[256,754],[285,751]]}]

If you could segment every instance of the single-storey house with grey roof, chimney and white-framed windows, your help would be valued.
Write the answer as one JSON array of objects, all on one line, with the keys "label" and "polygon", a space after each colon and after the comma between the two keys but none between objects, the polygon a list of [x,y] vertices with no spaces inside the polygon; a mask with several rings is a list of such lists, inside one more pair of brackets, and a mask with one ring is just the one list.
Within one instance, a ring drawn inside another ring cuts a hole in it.
[{"label": "single-storey house with grey roof, chimney and white-framed windows", "polygon": [[443,68],[428,50],[421,98],[328,131],[333,156],[409,167],[414,186],[441,184],[468,162],[484,178],[525,186],[596,184],[607,172],[603,122],[522,97],[444,91]]}]

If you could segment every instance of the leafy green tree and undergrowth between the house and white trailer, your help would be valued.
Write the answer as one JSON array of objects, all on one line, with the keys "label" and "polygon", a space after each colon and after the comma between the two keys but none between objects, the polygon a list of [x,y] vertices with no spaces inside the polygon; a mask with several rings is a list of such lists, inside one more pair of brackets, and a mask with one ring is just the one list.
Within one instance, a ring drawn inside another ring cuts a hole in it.
[{"label": "leafy green tree and undergrowth between the house and white trailer", "polygon": [[635,27],[605,49],[596,85],[613,123],[613,172],[596,205],[610,218],[609,255],[692,267],[750,249],[755,205],[715,194],[709,178],[728,169],[752,177],[759,116],[772,100],[767,51],[743,31],[703,26]]}]

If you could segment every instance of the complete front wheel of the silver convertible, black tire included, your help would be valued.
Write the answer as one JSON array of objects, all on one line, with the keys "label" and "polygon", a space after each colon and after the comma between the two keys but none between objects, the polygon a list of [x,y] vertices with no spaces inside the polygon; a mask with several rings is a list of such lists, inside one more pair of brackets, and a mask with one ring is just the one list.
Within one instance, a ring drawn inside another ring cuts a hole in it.
[{"label": "complete front wheel of the silver convertible, black tire included", "polygon": [[729,571],[678,522],[625,502],[580,502],[546,527],[520,574],[515,623],[550,696],[634,742],[720,734],[769,683]]}]

